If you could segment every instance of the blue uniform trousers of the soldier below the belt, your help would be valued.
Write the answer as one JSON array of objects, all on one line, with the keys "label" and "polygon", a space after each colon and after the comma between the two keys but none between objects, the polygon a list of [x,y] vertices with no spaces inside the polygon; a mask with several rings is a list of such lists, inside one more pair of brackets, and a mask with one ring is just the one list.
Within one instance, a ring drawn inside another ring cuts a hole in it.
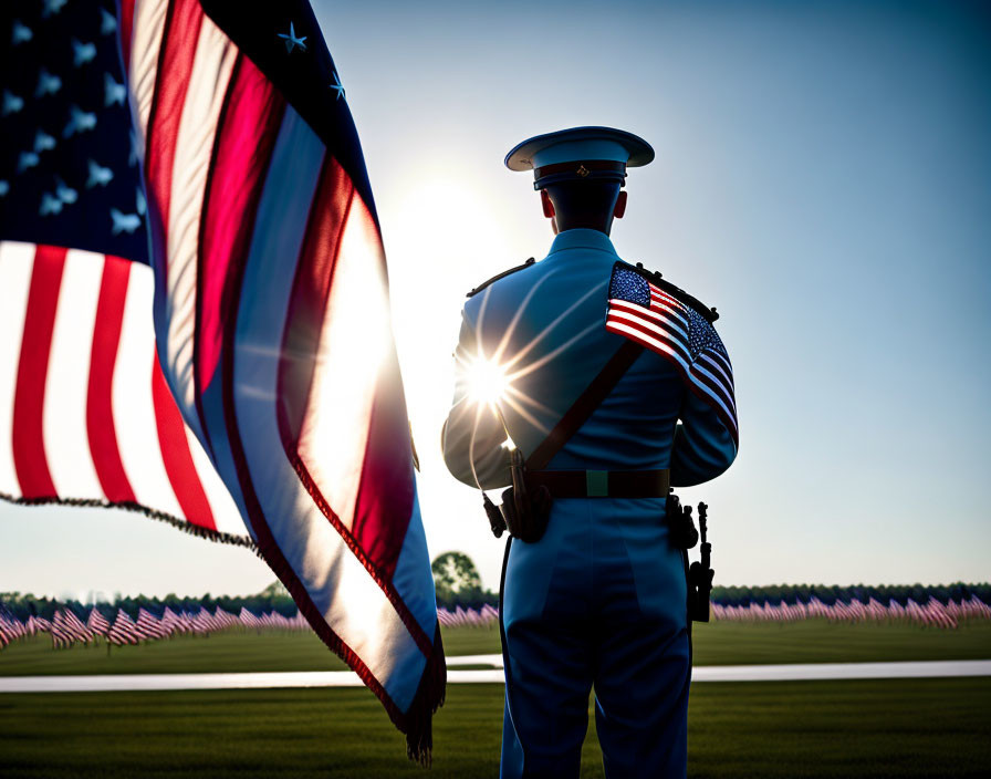
[{"label": "blue uniform trousers of the soldier below the belt", "polygon": [[502,584],[502,777],[577,777],[595,689],[606,776],[686,775],[682,553],[659,499],[559,499]]}]

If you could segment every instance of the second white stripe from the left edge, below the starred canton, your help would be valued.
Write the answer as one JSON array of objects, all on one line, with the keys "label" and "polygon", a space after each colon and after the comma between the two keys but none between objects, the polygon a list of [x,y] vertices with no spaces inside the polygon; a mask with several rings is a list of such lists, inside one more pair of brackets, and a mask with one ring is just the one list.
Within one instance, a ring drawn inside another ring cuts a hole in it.
[{"label": "second white stripe from the left edge, below the starred canton", "polygon": [[65,252],[42,413],[45,460],[60,498],[105,499],[86,429],[90,355],[103,264],[103,255]]}]

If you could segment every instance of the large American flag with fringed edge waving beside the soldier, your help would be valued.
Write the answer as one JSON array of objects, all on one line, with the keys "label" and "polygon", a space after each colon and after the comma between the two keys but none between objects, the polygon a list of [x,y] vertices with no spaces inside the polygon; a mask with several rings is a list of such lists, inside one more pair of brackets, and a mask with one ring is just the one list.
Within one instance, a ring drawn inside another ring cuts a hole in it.
[{"label": "large American flag with fringed edge waving beside the soldier", "polygon": [[425,758],[445,665],[385,258],[312,10],[2,14],[0,491],[255,546]]}]

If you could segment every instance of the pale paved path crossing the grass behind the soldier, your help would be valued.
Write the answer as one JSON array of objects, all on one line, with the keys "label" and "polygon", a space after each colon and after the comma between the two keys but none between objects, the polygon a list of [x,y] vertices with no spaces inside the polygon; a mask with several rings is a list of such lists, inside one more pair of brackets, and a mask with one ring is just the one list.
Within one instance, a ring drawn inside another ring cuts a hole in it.
[{"label": "pale paved path crossing the grass behind the soldier", "polygon": [[[459,665],[490,665],[458,669]],[[448,682],[501,684],[502,655],[449,657]],[[893,679],[991,676],[991,661],[927,663],[816,663],[807,665],[709,665],[692,669],[699,682],[785,682],[801,679]],[[105,693],[147,689],[258,689],[271,687],[361,687],[350,671],[303,671],[251,674],[139,674],[107,676],[7,676],[0,693]]]}]

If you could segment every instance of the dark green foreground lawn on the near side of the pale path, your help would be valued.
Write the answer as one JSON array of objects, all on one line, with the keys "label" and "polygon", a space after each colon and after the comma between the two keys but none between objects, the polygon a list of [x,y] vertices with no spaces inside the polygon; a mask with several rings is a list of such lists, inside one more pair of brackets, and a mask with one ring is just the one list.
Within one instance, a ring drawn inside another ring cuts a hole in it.
[{"label": "dark green foreground lawn on the near side of the pale path", "polygon": [[[985,777],[989,710],[988,678],[697,685],[689,776]],[[364,689],[0,695],[0,775],[496,777],[501,724],[500,685],[452,685],[424,772]]]}]

